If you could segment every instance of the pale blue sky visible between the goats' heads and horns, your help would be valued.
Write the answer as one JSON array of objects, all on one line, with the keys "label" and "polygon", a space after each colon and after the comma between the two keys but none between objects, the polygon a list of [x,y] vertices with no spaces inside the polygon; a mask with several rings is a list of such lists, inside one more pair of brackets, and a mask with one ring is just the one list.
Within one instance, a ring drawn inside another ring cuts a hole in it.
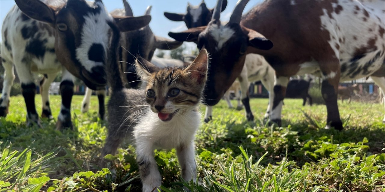
[{"label": "pale blue sky visible between the goats' heads and horns", "polygon": [[[182,31],[187,29],[184,25],[184,22],[173,22],[164,17],[163,12],[176,12],[176,13],[185,13],[187,7],[187,0],[128,0],[134,16],[141,16],[144,14],[147,6],[152,5],[151,16],[152,20],[150,26],[152,31],[157,36],[168,37],[167,33],[169,31]],[[202,0],[188,0],[192,5],[198,5]],[[116,8],[123,8],[122,0],[104,0],[104,5],[107,7],[107,10],[112,11]],[[216,0],[205,0],[208,8],[213,8]],[[228,20],[237,0],[228,0],[228,6],[226,10],[221,14],[221,20]],[[248,5],[245,8],[246,12],[252,8],[261,0],[250,0]],[[14,0],[0,0],[0,21],[1,25],[3,24],[3,19],[7,15],[8,11],[15,5]],[[1,26],[0,26],[1,30]],[[0,37],[0,41],[1,37]]]}]

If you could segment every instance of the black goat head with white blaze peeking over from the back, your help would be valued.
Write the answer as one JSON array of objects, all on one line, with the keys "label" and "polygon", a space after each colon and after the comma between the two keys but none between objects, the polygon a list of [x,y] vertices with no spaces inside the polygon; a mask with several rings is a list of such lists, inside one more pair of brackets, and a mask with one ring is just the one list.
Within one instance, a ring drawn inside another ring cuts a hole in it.
[{"label": "black goat head with white blaze peeking over from the back", "polygon": [[[224,0],[221,12],[226,9],[226,6],[227,0]],[[213,11],[214,9],[207,8],[206,3],[204,2],[204,0],[202,0],[202,2],[197,6],[193,6],[190,3],[187,3],[186,13],[164,12],[164,16],[171,21],[184,21],[184,23],[186,23],[187,28],[194,28],[207,25],[211,20]]]}]

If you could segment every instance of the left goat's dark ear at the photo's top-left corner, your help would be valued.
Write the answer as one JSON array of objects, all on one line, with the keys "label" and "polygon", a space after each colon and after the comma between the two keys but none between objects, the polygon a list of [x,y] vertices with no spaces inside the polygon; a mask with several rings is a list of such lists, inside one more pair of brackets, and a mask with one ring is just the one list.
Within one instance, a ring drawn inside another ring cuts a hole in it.
[{"label": "left goat's dark ear at the photo's top-left corner", "polygon": [[15,0],[16,5],[30,18],[54,25],[56,7],[51,7],[40,0]]}]

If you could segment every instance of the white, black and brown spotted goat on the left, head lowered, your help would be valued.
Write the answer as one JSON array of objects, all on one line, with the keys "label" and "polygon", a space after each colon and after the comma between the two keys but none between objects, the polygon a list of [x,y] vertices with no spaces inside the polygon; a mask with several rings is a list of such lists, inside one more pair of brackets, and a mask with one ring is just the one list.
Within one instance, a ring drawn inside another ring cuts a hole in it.
[{"label": "white, black and brown spotted goat on the left, head lowered", "polygon": [[1,46],[5,80],[0,99],[0,116],[9,109],[9,93],[15,66],[27,107],[27,126],[41,127],[35,107],[36,86],[32,72],[45,74],[41,93],[42,117],[52,117],[49,86],[62,70],[62,104],[57,129],[72,127],[70,105],[77,77],[92,89],[107,84],[105,63],[109,61],[111,26],[121,31],[137,30],[147,25],[151,16],[111,17],[101,0],[15,0],[16,4],[3,22]]}]

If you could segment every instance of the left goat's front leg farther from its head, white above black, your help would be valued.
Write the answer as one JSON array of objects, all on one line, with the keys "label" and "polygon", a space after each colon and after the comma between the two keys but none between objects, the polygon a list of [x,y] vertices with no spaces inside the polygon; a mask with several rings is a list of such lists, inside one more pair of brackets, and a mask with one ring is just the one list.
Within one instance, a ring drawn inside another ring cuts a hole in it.
[{"label": "left goat's front leg farther from its head, white above black", "polygon": [[27,126],[37,124],[39,127],[42,127],[35,106],[36,85],[33,81],[30,65],[21,61],[15,67],[21,82],[25,106],[27,107]]}]

